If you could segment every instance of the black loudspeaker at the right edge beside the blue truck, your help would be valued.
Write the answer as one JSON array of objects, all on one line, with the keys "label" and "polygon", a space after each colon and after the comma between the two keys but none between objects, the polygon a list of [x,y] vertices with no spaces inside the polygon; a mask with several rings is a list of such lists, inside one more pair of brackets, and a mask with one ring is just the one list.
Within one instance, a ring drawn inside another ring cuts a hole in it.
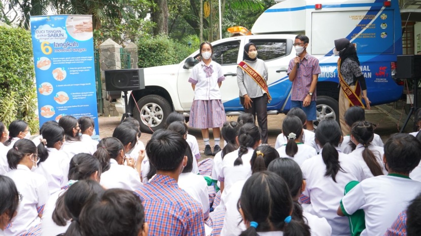
[{"label": "black loudspeaker at the right edge beside the blue truck", "polygon": [[398,56],[397,78],[421,78],[421,55]]}]

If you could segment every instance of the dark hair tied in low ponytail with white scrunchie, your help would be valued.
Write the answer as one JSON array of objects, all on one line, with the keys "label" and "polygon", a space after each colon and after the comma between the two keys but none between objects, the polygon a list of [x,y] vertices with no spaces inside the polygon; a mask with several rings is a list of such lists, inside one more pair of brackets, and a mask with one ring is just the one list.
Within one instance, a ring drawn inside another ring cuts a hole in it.
[{"label": "dark hair tied in low ponytail with white scrunchie", "polygon": [[298,145],[295,139],[302,137],[303,124],[301,120],[295,115],[287,115],[282,123],[282,133],[288,138],[285,152],[287,155],[294,157],[298,152]]}]

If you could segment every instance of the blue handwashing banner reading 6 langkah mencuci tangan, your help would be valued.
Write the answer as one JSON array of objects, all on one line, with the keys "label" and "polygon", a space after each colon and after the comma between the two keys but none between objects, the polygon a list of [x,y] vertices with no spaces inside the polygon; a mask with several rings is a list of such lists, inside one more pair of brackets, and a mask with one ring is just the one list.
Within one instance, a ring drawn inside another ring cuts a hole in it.
[{"label": "blue handwashing banner reading 6 langkah mencuci tangan", "polygon": [[64,115],[89,116],[98,140],[92,17],[32,16],[30,25],[40,127]]}]

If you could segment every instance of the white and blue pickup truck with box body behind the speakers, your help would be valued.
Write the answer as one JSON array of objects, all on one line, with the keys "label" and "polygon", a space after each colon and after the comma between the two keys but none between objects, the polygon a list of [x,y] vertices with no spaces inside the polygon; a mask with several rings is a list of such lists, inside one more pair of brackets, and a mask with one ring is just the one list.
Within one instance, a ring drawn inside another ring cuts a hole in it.
[{"label": "white and blue pickup truck with box body behind the speakers", "polygon": [[[287,69],[296,55],[293,43],[297,34],[310,38],[307,52],[319,59],[322,69],[317,84],[316,125],[323,119],[338,120],[338,57],[332,53],[334,40],[338,38],[347,37],[356,44],[372,105],[398,100],[403,86],[394,78],[394,67],[396,56],[402,54],[401,18],[398,1],[389,2],[391,4],[379,0],[340,3],[287,0],[272,6],[258,18],[252,28],[254,35],[213,42],[213,60],[222,65],[226,78],[221,86],[226,114],[243,112],[236,71],[243,47],[249,42],[257,46],[258,57],[266,62],[269,70],[267,84],[272,102],[268,104],[268,114],[288,112],[292,83]],[[171,111],[189,116],[194,92],[188,80],[198,55],[196,51],[179,64],[144,69],[145,89],[132,91],[140,112],[129,94],[129,110],[141,123],[142,131],[149,132],[149,127],[162,128]],[[117,99],[116,108],[119,113],[125,113],[123,98]]]}]

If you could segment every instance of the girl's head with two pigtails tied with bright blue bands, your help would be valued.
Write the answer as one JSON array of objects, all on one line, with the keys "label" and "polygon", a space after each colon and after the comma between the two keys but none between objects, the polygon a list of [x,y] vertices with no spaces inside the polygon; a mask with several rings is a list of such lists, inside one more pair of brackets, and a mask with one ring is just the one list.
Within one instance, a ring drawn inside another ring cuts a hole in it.
[{"label": "girl's head with two pigtails tied with bright blue bands", "polygon": [[308,225],[291,217],[293,209],[290,190],[282,178],[269,171],[252,175],[238,201],[241,223],[247,228],[240,236],[310,236]]}]

